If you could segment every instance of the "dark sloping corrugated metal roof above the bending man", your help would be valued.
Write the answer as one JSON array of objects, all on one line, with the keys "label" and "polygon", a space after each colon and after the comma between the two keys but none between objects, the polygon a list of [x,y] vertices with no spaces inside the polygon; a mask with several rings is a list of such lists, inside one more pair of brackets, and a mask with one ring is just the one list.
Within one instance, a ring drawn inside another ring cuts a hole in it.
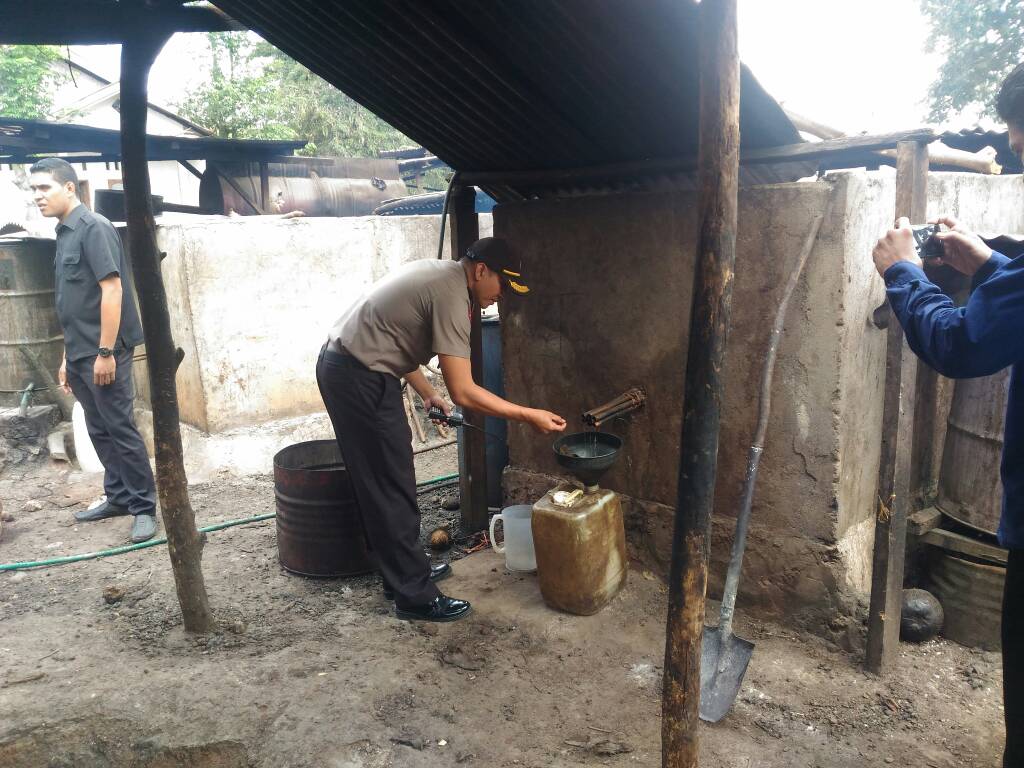
[{"label": "dark sloping corrugated metal roof above the bending man", "polygon": [[[698,9],[690,0],[216,4],[457,170],[577,168],[697,151]],[[800,141],[745,68],[740,88],[743,148]]]}]

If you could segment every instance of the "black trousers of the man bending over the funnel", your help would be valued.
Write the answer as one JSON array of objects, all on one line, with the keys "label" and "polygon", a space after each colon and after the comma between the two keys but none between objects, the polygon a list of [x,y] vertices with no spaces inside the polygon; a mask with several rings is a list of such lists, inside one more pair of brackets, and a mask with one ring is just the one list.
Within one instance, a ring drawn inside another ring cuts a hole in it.
[{"label": "black trousers of the man bending over the funnel", "polygon": [[321,350],[316,384],[355,492],[367,543],[401,608],[439,594],[420,547],[413,434],[401,382],[350,355]]}]

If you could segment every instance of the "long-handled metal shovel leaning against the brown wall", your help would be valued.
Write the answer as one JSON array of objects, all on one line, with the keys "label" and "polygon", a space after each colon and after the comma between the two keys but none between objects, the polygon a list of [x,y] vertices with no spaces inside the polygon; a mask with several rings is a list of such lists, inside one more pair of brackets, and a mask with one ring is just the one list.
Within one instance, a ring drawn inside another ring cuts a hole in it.
[{"label": "long-handled metal shovel leaning against the brown wall", "polygon": [[782,336],[785,308],[790,297],[800,281],[807,257],[814,247],[818,229],[824,214],[812,223],[804,241],[797,268],[790,275],[782,301],[775,312],[775,324],[768,338],[768,352],[761,372],[761,400],[758,404],[758,427],[754,433],[754,443],[746,458],[746,477],[743,480],[743,496],[739,514],[736,515],[736,536],[732,542],[729,570],[725,575],[725,592],[722,594],[722,611],[718,627],[705,627],[700,646],[700,719],[717,723],[724,718],[736,700],[736,694],[743,684],[746,666],[754,653],[754,643],[732,634],[732,615],[736,607],[736,590],[739,588],[739,571],[743,565],[743,549],[746,546],[746,526],[751,521],[751,503],[754,500],[754,485],[758,478],[758,464],[764,453],[765,432],[768,430],[768,414],[771,411],[771,380],[775,372],[775,356],[778,340]]}]

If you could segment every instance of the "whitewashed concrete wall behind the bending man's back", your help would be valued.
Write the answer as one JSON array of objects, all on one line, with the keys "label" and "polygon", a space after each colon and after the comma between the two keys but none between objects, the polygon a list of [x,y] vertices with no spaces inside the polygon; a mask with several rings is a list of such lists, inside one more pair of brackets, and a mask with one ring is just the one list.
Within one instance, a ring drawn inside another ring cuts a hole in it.
[{"label": "whitewashed concrete wall behind the bending man's back", "polygon": [[[480,217],[482,233],[489,218]],[[203,217],[159,227],[172,332],[185,351],[182,421],[223,432],[323,411],[313,366],[331,324],[389,270],[436,257],[439,222]]]}]

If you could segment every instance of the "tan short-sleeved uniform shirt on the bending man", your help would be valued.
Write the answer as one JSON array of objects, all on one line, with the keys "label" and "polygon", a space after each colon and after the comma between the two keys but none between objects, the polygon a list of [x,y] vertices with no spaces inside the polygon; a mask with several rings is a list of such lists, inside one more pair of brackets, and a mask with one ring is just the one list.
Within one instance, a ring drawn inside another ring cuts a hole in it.
[{"label": "tan short-sleeved uniform shirt on the bending man", "polygon": [[400,378],[435,354],[469,357],[469,313],[462,264],[414,261],[377,283],[335,322],[329,347]]}]

